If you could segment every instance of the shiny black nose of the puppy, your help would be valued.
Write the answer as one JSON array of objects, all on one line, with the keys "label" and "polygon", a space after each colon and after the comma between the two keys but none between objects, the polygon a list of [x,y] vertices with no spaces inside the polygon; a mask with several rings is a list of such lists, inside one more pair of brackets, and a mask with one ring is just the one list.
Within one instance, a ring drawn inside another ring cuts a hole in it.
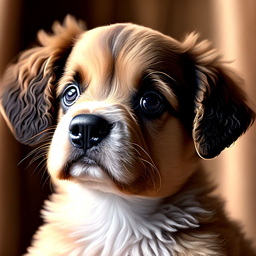
[{"label": "shiny black nose of the puppy", "polygon": [[83,114],[75,116],[69,125],[71,143],[86,152],[87,149],[98,145],[110,130],[111,125],[103,118]]}]

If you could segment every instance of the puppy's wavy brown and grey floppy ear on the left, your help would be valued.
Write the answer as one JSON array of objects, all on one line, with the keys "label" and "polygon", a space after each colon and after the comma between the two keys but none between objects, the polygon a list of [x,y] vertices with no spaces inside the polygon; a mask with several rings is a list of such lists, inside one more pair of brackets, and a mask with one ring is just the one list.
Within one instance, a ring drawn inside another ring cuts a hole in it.
[{"label": "puppy's wavy brown and grey floppy ear on the left", "polygon": [[1,112],[19,142],[40,143],[43,132],[52,125],[56,76],[83,27],[67,15],[63,25],[53,24],[53,34],[39,31],[39,46],[24,51],[5,71]]}]

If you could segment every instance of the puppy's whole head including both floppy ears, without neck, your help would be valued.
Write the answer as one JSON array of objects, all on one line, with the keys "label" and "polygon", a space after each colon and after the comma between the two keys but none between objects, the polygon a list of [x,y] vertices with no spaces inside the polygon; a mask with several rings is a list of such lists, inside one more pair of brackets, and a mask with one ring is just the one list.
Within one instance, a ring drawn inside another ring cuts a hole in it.
[{"label": "puppy's whole head including both floppy ears, without neck", "polygon": [[84,31],[67,16],[7,69],[2,113],[21,143],[42,144],[54,131],[53,178],[173,194],[195,170],[196,151],[219,155],[254,116],[234,74],[197,38],[129,23]]}]

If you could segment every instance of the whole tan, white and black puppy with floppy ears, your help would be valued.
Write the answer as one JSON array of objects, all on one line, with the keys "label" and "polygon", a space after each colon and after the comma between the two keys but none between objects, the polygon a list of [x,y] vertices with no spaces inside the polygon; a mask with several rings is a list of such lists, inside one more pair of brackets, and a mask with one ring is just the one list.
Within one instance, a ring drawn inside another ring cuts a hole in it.
[{"label": "whole tan, white and black puppy with floppy ears", "polygon": [[85,31],[67,16],[6,70],[2,114],[45,149],[55,190],[26,255],[256,255],[199,165],[254,113],[197,39],[130,23]]}]

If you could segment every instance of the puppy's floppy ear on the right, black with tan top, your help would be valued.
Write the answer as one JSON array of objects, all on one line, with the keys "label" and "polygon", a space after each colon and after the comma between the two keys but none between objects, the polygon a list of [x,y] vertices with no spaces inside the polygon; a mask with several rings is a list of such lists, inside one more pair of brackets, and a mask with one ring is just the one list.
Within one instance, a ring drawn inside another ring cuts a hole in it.
[{"label": "puppy's floppy ear on the right, black with tan top", "polygon": [[191,33],[183,42],[196,77],[192,135],[198,154],[210,159],[246,132],[255,113],[238,87],[241,79],[224,66],[209,41],[196,43],[197,38]]}]

